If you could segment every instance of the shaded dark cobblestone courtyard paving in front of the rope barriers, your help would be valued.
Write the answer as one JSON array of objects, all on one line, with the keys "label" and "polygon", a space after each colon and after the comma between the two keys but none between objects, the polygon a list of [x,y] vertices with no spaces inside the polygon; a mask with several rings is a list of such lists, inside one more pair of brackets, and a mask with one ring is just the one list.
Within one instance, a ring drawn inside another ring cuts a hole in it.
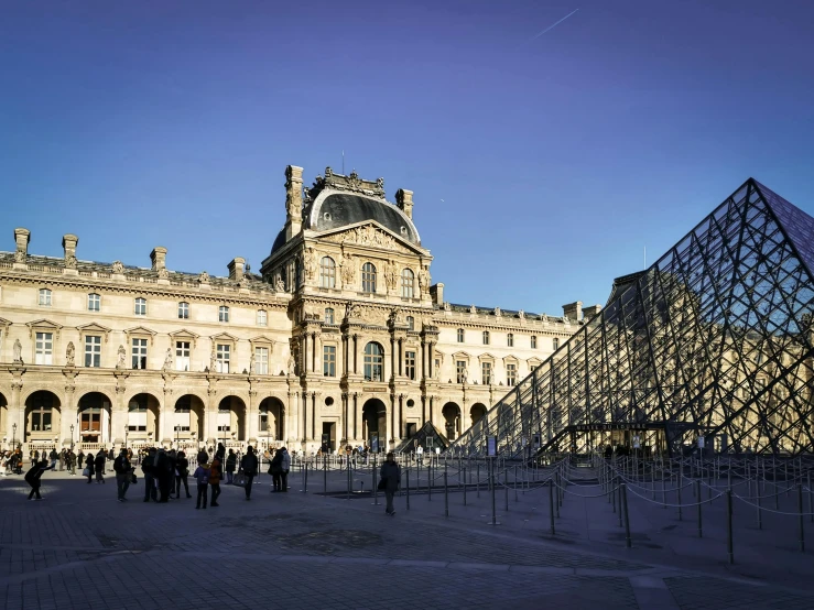
[{"label": "shaded dark cobblestone courtyard paving in front of the rope barriers", "polygon": [[491,526],[484,492],[449,518],[442,495],[415,495],[410,511],[402,497],[388,518],[370,497],[301,493],[294,477],[271,494],[261,482],[251,502],[224,486],[220,506],[196,511],[194,499],[143,503],[142,480],[119,503],[112,477],[47,472],[37,502],[22,477],[0,478],[0,607],[814,608],[802,585],[550,540],[524,501]]}]

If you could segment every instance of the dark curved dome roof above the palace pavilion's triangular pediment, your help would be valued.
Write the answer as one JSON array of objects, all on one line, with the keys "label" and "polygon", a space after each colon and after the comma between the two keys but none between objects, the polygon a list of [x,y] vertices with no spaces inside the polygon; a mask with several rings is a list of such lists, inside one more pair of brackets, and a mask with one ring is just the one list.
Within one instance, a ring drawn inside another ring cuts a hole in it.
[{"label": "dark curved dome roof above the palace pavilion's triangular pediment", "polygon": [[306,209],[306,228],[312,231],[339,229],[365,220],[376,220],[401,239],[421,246],[413,221],[392,204],[363,195],[324,190]]}]

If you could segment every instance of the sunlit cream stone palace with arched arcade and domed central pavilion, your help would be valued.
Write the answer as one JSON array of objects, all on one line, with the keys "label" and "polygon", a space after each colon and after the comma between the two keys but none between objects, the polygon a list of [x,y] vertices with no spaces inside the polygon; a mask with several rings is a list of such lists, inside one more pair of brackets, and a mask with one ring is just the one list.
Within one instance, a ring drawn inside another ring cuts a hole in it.
[{"label": "sunlit cream stone palace with arched arcade and domed central pavilion", "polygon": [[398,448],[456,438],[582,324],[453,305],[431,284],[413,193],[285,170],[285,226],[260,273],[0,252],[0,437],[24,450],[127,444]]}]

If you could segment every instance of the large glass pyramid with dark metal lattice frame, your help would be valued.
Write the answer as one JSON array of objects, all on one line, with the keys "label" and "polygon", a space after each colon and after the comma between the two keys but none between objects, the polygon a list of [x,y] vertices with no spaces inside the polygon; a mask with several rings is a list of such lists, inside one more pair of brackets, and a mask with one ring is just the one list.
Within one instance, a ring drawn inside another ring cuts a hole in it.
[{"label": "large glass pyramid with dark metal lattice frame", "polygon": [[452,446],[814,451],[814,218],[750,178]]}]

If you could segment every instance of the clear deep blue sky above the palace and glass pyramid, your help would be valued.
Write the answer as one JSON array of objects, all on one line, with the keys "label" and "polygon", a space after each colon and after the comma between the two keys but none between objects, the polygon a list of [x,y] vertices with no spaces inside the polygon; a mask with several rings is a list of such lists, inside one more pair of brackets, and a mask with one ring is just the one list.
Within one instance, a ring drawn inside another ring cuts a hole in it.
[{"label": "clear deep blue sky above the palace and glass pyramid", "polygon": [[[534,36],[575,9],[547,33]],[[814,3],[0,3],[0,249],[225,274],[383,176],[446,297],[605,303],[748,176],[814,213]],[[442,199],[444,201],[442,201]]]}]

